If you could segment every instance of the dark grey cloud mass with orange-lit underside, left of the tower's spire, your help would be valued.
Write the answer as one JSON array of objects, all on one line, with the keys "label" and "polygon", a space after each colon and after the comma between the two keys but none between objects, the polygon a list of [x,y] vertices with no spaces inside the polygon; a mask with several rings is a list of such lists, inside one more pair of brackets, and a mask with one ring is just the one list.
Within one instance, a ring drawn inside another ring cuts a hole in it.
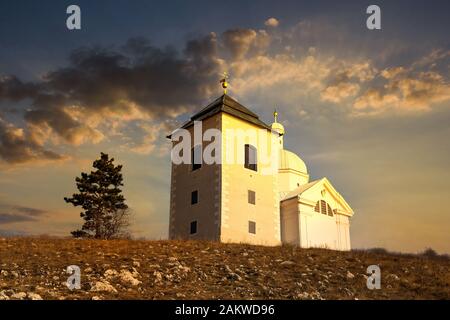
[{"label": "dark grey cloud mass with orange-lit underside, left of the tower's spire", "polygon": [[[102,134],[85,121],[138,109],[150,119],[170,119],[198,107],[217,89],[221,72],[217,39],[211,33],[190,40],[185,50],[157,48],[133,38],[121,47],[80,48],[67,67],[48,72],[42,81],[0,78],[0,102],[30,101],[22,130],[0,119],[0,157],[9,163],[60,159],[34,139],[51,130],[71,144],[99,141]],[[73,115],[76,108],[82,117]]]}]

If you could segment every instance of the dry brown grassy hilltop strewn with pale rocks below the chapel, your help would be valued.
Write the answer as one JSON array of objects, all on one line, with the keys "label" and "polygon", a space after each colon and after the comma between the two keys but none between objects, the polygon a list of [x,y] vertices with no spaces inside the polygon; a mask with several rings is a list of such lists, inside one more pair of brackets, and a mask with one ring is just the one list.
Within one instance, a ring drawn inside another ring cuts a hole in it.
[{"label": "dry brown grassy hilltop strewn with pale rocks below the chapel", "polygon": [[[67,287],[79,266],[80,289]],[[366,286],[379,265],[381,289]],[[450,299],[448,257],[195,241],[0,239],[0,300]]]}]

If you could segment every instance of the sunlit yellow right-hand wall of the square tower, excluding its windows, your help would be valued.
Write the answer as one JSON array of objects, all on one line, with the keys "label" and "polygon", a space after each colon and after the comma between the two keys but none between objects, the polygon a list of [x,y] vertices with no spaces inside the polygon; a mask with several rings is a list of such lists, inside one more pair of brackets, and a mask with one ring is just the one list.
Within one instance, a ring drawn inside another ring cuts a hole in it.
[{"label": "sunlit yellow right-hand wall of the square tower, excluding its windows", "polygon": [[[222,155],[230,151],[231,143],[236,142],[234,136],[227,134],[227,129],[260,130],[259,127],[222,114]],[[272,145],[267,143],[273,138],[270,131],[265,130],[263,141],[251,141],[249,137],[234,144],[234,154],[244,152],[245,143],[255,145],[258,150],[258,162],[262,158],[261,152],[267,146],[272,151]],[[278,141],[275,145],[278,149]],[[263,146],[262,144],[265,145]],[[276,158],[277,160],[277,158]],[[221,241],[245,242],[252,244],[278,245],[280,244],[280,214],[279,196],[277,191],[277,174],[262,174],[263,166],[258,163],[258,172],[244,168],[243,163],[224,163],[221,167]],[[267,166],[265,167],[267,169]],[[277,167],[275,166],[275,170]],[[276,173],[276,171],[275,171]],[[248,203],[248,190],[256,192],[256,204]],[[256,234],[248,232],[249,220],[256,222]]]}]

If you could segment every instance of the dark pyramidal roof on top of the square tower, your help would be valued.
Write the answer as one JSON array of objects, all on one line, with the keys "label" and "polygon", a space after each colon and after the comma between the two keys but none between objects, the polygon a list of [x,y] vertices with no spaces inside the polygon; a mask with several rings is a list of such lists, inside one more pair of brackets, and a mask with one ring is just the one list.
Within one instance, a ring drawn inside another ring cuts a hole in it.
[{"label": "dark pyramidal roof on top of the square tower", "polygon": [[271,130],[270,126],[261,121],[256,113],[250,111],[226,94],[220,96],[219,98],[208,104],[206,107],[201,109],[199,112],[195,113],[191,117],[191,119],[182,126],[182,128],[188,128],[193,125],[194,121],[202,121],[219,112],[231,114],[237,118],[251,122],[259,127]]}]

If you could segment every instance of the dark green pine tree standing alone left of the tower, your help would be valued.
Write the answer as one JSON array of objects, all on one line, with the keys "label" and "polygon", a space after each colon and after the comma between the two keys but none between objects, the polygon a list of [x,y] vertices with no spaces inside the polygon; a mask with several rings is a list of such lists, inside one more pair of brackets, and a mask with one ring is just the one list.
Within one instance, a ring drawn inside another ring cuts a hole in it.
[{"label": "dark green pine tree standing alone left of the tower", "polygon": [[74,237],[111,239],[123,237],[128,227],[128,206],[122,195],[122,166],[114,165],[114,158],[109,159],[101,153],[93,167],[97,170],[87,174],[82,172],[75,182],[79,193],[71,198],[64,198],[75,207],[81,206],[80,216],[84,220],[81,230],[71,232]]}]

